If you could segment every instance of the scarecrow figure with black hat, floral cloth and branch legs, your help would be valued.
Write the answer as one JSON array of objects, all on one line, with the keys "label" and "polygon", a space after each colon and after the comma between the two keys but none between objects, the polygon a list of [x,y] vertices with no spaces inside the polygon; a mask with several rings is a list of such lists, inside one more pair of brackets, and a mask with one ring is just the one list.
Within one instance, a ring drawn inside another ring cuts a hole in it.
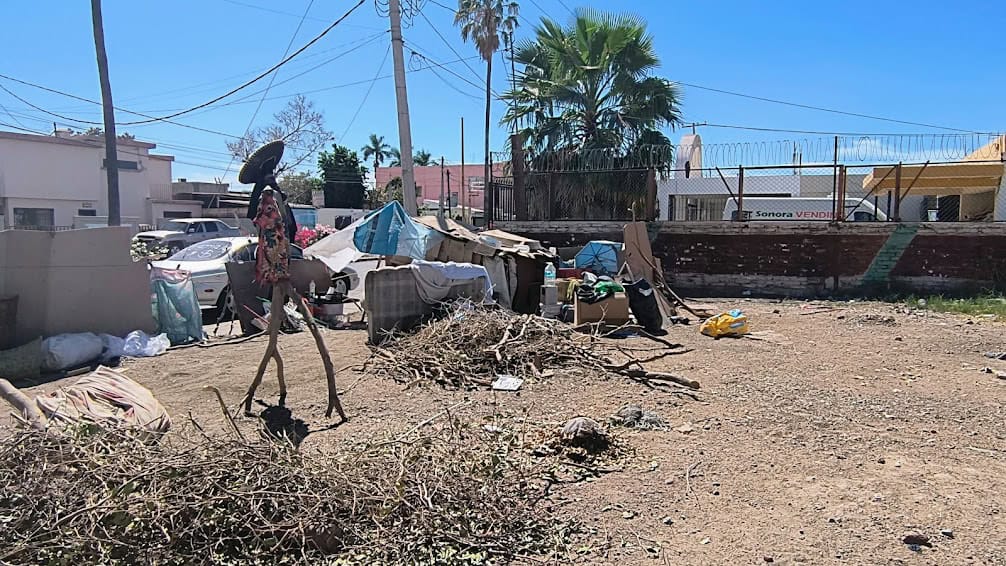
[{"label": "scarecrow figure with black hat, floral cloth and branch legs", "polygon": [[280,382],[280,405],[283,405],[287,400],[283,358],[280,356],[277,341],[280,328],[286,318],[284,305],[287,303],[287,298],[291,298],[304,316],[304,320],[314,336],[315,344],[318,346],[322,364],[325,366],[325,376],[328,382],[328,410],[325,411],[325,416],[332,416],[334,408],[338,411],[339,417],[346,420],[346,413],[342,410],[342,404],[339,402],[339,396],[336,392],[335,370],[328,349],[325,347],[325,341],[318,331],[318,325],[315,324],[314,317],[311,316],[311,311],[305,304],[304,298],[290,282],[290,242],[294,239],[294,234],[297,233],[297,223],[286,202],[286,195],[276,182],[275,171],[283,157],[283,150],[282,141],[278,140],[266,144],[248,157],[237,175],[238,182],[242,184],[255,183],[248,206],[248,217],[253,218],[256,227],[259,228],[256,282],[261,286],[273,287],[268,329],[269,345],[266,347],[266,353],[259,364],[255,380],[244,396],[244,412],[252,411],[252,401],[255,398],[256,389],[262,384],[262,378],[266,373],[266,368],[269,367],[270,359],[276,361],[276,376]]}]

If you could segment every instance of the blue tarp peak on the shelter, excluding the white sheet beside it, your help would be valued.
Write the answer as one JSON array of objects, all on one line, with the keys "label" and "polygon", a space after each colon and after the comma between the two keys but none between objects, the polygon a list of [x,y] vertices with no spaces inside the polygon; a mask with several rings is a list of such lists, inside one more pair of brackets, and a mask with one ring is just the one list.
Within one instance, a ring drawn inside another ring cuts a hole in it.
[{"label": "blue tarp peak on the shelter, excluding the white sheet beside it", "polygon": [[363,217],[353,232],[353,245],[373,255],[426,257],[427,250],[444,239],[443,234],[412,220],[397,201],[391,201]]}]

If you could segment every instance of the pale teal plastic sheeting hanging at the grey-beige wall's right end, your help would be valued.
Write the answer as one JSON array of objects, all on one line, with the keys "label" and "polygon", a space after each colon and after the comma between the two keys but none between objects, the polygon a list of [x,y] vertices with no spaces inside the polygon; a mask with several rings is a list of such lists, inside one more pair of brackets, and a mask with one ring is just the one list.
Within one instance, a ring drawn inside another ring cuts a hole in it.
[{"label": "pale teal plastic sheeting hanging at the grey-beige wall's right end", "polygon": [[189,272],[154,267],[150,289],[157,334],[166,334],[172,345],[201,342],[202,312]]}]

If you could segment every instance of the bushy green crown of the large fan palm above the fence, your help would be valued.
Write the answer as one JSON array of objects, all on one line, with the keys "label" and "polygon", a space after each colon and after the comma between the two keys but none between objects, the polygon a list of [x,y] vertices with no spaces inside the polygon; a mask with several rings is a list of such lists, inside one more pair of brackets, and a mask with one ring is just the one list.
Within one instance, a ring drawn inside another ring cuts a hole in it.
[{"label": "bushy green crown of the large fan palm above the fence", "polygon": [[565,27],[542,19],[514,58],[524,68],[503,122],[525,125],[530,147],[628,150],[681,123],[678,88],[652,74],[660,60],[635,16],[580,9]]}]

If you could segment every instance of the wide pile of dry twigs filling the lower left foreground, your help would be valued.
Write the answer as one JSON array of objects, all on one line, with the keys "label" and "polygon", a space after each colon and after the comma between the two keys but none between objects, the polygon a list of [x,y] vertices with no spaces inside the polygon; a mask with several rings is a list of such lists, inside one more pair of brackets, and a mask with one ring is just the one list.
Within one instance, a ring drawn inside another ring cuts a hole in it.
[{"label": "wide pile of dry twigs filling the lower left foreground", "polygon": [[506,563],[568,535],[513,440],[478,429],[335,456],[196,438],[9,438],[0,564]]}]

